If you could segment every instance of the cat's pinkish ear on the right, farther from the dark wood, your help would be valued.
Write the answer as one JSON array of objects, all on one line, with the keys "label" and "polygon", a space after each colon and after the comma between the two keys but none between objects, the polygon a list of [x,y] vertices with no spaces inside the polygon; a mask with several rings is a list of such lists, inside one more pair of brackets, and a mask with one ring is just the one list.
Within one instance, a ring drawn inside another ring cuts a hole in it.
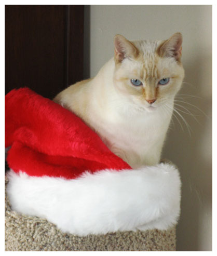
[{"label": "cat's pinkish ear on the right, farther from the dark wood", "polygon": [[175,33],[158,48],[160,57],[173,57],[180,61],[182,56],[182,34]]}]

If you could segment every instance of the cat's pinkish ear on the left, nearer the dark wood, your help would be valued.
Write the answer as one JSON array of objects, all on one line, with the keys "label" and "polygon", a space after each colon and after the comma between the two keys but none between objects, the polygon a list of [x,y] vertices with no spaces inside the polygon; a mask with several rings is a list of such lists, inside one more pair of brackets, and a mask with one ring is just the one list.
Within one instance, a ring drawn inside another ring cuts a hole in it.
[{"label": "cat's pinkish ear on the left, nearer the dark wood", "polygon": [[115,46],[115,60],[117,63],[122,62],[127,57],[136,58],[138,56],[138,49],[130,41],[122,35],[114,37]]}]

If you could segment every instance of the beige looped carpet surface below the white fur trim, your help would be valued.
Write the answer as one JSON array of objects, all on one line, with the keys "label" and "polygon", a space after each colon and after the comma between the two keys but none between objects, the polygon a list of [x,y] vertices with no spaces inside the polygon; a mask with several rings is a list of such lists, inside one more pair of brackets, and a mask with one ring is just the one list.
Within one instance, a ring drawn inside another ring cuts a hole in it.
[{"label": "beige looped carpet surface below the white fur trim", "polygon": [[80,237],[62,233],[45,219],[12,211],[5,194],[5,251],[175,251],[175,227]]}]

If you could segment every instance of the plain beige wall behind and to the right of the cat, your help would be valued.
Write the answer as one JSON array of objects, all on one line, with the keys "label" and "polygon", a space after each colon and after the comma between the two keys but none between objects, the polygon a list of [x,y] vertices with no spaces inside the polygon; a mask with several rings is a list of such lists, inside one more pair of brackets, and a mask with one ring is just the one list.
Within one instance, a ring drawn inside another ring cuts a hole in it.
[{"label": "plain beige wall behind and to the right of the cat", "polygon": [[179,167],[183,184],[177,250],[211,251],[212,6],[86,6],[84,75],[96,75],[113,56],[115,34],[129,40],[167,39],[175,32],[183,34],[186,72],[176,103],[187,124],[174,113],[163,157]]}]

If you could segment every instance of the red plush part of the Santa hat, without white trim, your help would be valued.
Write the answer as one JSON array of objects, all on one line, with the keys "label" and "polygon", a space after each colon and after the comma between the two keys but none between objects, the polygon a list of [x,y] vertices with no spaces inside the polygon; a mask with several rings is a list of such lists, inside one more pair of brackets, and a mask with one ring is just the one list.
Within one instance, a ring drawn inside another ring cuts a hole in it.
[{"label": "red plush part of the Santa hat, without white trim", "polygon": [[30,176],[74,179],[84,171],[131,169],[79,117],[28,88],[5,96],[8,165]]}]

